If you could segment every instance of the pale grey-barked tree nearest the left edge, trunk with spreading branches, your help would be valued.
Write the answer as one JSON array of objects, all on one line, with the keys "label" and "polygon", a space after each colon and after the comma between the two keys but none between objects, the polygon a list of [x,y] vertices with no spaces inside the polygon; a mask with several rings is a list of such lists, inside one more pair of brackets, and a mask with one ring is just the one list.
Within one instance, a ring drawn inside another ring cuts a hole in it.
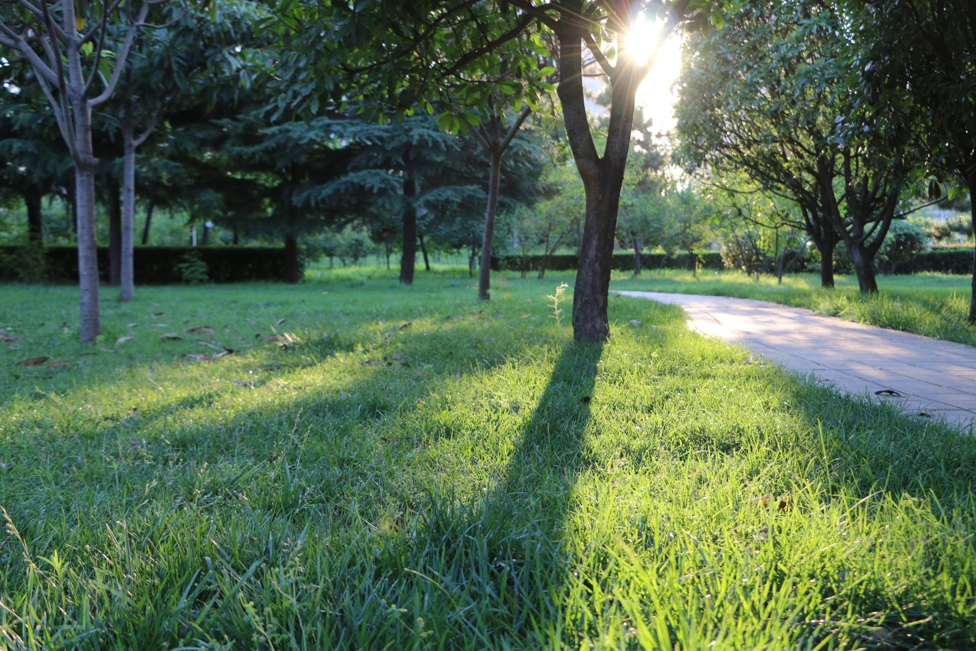
[{"label": "pale grey-barked tree nearest the left edge, trunk with spreading branches", "polygon": [[[95,242],[95,170],[92,110],[115,91],[136,36],[154,6],[166,0],[132,4],[63,0],[4,2],[0,46],[22,58],[51,105],[61,138],[74,159],[78,224],[78,278],[81,341],[101,333],[99,269]],[[106,35],[121,34],[114,57],[106,57]],[[96,91],[96,83],[101,92]]]}]

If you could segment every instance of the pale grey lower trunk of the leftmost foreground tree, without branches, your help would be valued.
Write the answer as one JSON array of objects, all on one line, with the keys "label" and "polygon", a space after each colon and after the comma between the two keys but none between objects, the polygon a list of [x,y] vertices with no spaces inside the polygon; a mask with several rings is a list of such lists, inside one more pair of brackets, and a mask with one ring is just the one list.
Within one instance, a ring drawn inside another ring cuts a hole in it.
[{"label": "pale grey lower trunk of the leftmost foreground tree, without branches", "polygon": [[99,307],[99,258],[95,239],[95,168],[92,150],[92,110],[88,102],[74,102],[75,204],[78,227],[79,331],[82,342],[94,342],[102,334]]}]

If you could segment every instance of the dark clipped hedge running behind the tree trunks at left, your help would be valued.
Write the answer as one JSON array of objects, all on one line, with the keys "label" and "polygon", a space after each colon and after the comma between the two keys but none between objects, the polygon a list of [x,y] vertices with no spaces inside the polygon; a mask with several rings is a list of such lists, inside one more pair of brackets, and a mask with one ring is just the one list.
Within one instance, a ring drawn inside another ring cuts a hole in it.
[{"label": "dark clipped hedge running behind the tree trunks at left", "polygon": [[[24,279],[19,268],[27,247],[0,247],[0,280]],[[211,282],[232,283],[256,280],[288,280],[288,259],[283,248],[243,246],[136,247],[136,283],[173,285],[183,282],[177,264],[188,253],[197,254],[205,264]],[[78,251],[73,246],[44,249],[44,277],[51,282],[78,280]],[[99,276],[107,279],[108,249],[99,247]]]}]

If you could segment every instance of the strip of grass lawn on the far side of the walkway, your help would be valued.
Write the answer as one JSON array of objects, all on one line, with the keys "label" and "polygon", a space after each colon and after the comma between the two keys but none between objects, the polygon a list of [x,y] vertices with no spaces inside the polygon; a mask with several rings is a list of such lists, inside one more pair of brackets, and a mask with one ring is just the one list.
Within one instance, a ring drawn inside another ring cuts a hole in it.
[{"label": "strip of grass lawn on the far side of the walkway", "polygon": [[945,273],[878,276],[878,293],[864,297],[854,276],[838,275],[834,290],[820,287],[820,274],[794,273],[777,284],[773,276],[755,279],[740,271],[657,272],[641,277],[618,272],[614,289],[710,294],[809,307],[820,314],[849,321],[914,332],[976,346],[976,329],[966,323],[971,276]]}]

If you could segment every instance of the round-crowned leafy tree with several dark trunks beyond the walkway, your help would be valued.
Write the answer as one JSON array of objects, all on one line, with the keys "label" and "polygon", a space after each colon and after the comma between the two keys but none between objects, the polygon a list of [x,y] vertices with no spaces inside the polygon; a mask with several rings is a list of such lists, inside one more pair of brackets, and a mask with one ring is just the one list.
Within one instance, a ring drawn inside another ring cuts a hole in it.
[{"label": "round-crowned leafy tree with several dark trunks beyond the walkway", "polygon": [[[793,200],[833,284],[837,239],[862,292],[913,171],[910,130],[892,106],[858,101],[861,44],[836,5],[749,5],[703,35],[680,91],[688,159],[733,170]],[[735,189],[735,188],[730,188]]]}]

